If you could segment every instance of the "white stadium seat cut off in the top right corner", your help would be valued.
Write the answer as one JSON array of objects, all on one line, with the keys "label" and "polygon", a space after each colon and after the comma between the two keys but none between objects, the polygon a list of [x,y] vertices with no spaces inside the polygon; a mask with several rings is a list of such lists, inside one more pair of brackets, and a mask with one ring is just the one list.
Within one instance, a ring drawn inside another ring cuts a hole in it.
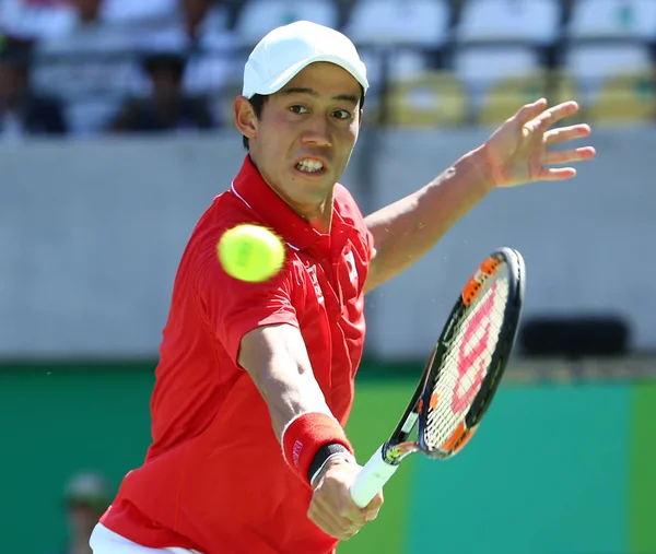
[{"label": "white stadium seat cut off in the top right corner", "polygon": [[566,27],[570,39],[642,38],[656,36],[654,0],[577,0]]}]

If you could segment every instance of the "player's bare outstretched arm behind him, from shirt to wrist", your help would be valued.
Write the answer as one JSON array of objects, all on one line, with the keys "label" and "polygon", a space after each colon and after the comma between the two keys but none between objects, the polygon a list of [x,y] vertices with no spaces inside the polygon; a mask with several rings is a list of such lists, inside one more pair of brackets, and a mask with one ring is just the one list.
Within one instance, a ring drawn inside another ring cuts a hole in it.
[{"label": "player's bare outstretched arm behind him, from shirt to wrist", "polygon": [[422,258],[491,190],[482,156],[481,149],[468,153],[425,187],[366,217],[376,248],[366,292]]}]

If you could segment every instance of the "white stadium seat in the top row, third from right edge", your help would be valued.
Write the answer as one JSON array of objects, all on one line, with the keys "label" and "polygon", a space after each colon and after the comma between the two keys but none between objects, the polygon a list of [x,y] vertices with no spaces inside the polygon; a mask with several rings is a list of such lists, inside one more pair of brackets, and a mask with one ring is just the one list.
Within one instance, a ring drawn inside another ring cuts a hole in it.
[{"label": "white stadium seat in the top row, third from right edge", "polygon": [[358,45],[414,45],[437,48],[448,37],[445,0],[359,0],[344,33]]}]

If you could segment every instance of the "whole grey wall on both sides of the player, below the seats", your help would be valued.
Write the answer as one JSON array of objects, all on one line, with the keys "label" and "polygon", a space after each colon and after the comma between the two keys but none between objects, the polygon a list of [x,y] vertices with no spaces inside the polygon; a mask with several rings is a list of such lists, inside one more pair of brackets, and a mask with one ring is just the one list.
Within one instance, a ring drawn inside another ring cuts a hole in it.
[{"label": "whole grey wall on both sides of the player, below the seats", "polygon": [[[380,134],[373,207],[406,195],[485,137]],[[495,191],[414,268],[368,298],[370,352],[424,357],[455,294],[492,248],[526,258],[526,315],[612,310],[656,347],[656,133],[597,132],[566,184]],[[641,153],[639,153],[641,152]],[[0,355],[152,355],[200,213],[244,153],[235,133],[0,150]],[[363,207],[366,212],[370,207]]]}]

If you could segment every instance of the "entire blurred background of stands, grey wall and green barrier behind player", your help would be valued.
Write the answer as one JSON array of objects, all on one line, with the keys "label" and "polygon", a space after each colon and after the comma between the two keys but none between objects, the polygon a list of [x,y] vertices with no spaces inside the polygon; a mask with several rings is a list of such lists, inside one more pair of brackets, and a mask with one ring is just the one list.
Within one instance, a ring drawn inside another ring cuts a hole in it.
[{"label": "entire blurred background of stands, grey wall and green barrier behind player", "polygon": [[244,61],[300,19],[367,63],[343,177],[365,213],[540,96],[577,99],[598,152],[572,181],[492,193],[367,298],[362,461],[476,264],[502,245],[527,263],[477,439],[405,464],[340,554],[656,553],[656,0],[0,0],[0,553],[87,553],[141,463],[177,263],[244,156]]}]

